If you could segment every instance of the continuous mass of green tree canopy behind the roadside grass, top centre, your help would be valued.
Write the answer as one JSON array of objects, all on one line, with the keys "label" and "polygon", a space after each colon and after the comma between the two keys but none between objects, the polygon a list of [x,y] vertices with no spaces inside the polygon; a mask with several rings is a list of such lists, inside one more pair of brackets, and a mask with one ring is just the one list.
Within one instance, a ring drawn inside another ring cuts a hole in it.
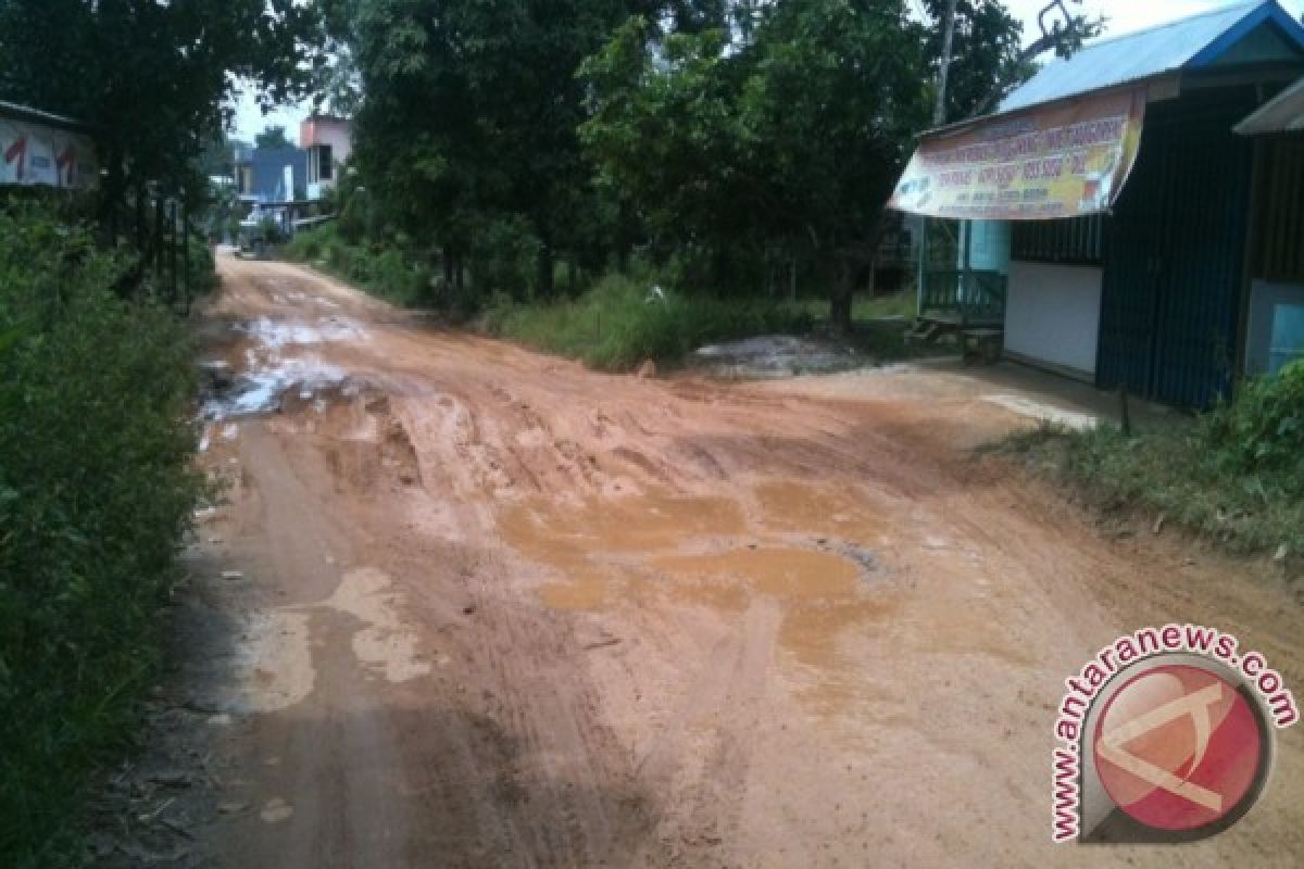
[{"label": "continuous mass of green tree canopy behind the roadside grass, top centre", "polygon": [[[634,248],[754,292],[802,263],[836,319],[936,94],[943,0],[323,0],[360,96],[351,232],[553,292]],[[1088,33],[1071,16],[1047,46]],[[948,115],[1031,70],[996,0],[960,0]],[[347,68],[347,69],[346,69]],[[422,253],[424,251],[424,253]],[[494,263],[532,259],[498,274]],[[509,270],[510,271],[510,270]],[[528,271],[528,274],[527,274]],[[501,280],[499,280],[501,279]]]}]

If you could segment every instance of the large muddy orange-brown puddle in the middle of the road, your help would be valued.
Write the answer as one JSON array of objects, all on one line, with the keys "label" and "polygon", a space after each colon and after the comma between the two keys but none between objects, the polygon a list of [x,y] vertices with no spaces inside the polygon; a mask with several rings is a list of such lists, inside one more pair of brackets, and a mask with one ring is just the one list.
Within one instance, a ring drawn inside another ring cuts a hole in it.
[{"label": "large muddy orange-brown puddle in the middle of the road", "polygon": [[[549,608],[689,606],[735,619],[769,598],[781,611],[778,646],[789,661],[854,689],[863,675],[840,653],[842,634],[883,634],[898,610],[861,542],[874,524],[850,495],[797,483],[760,486],[755,500],[768,537],[748,534],[756,529],[738,502],[665,494],[574,508],[520,504],[502,516],[499,532],[562,577],[539,588]],[[808,537],[794,541],[793,532]]]}]

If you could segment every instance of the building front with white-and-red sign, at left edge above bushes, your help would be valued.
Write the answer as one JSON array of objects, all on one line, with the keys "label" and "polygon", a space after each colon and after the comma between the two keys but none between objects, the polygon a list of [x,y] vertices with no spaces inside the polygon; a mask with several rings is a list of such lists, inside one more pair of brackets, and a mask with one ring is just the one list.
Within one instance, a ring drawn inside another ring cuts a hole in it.
[{"label": "building front with white-and-red sign, at left edge above bushes", "polygon": [[94,186],[99,167],[90,133],[70,117],[0,102],[0,185]]}]

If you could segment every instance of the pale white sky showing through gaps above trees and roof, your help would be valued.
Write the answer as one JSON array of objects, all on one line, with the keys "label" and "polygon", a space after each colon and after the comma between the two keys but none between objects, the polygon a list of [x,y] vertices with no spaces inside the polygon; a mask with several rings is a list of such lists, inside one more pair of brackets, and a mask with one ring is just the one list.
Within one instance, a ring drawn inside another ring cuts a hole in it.
[{"label": "pale white sky showing through gaps above trees and roof", "polygon": [[[919,0],[911,0],[917,7]],[[1106,16],[1108,26],[1106,36],[1141,30],[1151,25],[1175,18],[1209,12],[1219,7],[1235,5],[1245,0],[1082,0],[1065,5],[1071,10],[1081,9],[1088,16]],[[1041,31],[1037,27],[1037,13],[1046,7],[1047,0],[1005,0],[1005,7],[1024,22],[1024,40],[1031,42]],[[1283,0],[1283,7],[1299,16],[1304,12],[1304,0]],[[309,106],[289,106],[278,108],[266,117],[258,111],[252,96],[240,99],[236,106],[236,137],[252,141],[266,126],[282,125],[291,139],[299,138],[299,121],[308,113]]]}]

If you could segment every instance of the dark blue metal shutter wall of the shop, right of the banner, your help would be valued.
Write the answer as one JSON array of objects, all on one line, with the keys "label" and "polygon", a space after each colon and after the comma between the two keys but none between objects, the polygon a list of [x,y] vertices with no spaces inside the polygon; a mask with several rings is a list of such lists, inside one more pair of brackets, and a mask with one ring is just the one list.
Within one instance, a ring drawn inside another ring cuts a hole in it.
[{"label": "dark blue metal shutter wall of the shop, right of the banner", "polygon": [[1254,104],[1219,90],[1150,107],[1107,224],[1098,386],[1205,408],[1231,384],[1253,158],[1231,128]]}]

